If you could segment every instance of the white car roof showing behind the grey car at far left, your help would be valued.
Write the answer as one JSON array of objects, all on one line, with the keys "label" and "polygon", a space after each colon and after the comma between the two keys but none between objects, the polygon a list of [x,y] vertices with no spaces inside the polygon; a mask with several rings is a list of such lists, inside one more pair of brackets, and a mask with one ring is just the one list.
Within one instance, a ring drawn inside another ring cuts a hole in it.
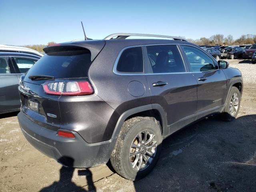
[{"label": "white car roof showing behind the grey car at far left", "polygon": [[30,48],[12,46],[12,45],[0,45],[0,52],[18,52],[18,53],[28,53],[36,56],[44,56],[44,54]]}]

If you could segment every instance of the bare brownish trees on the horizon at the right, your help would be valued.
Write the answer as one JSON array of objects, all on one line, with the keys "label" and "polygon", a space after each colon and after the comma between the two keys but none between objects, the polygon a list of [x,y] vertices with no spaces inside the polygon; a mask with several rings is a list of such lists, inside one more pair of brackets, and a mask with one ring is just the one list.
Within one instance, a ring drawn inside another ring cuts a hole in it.
[{"label": "bare brownish trees on the horizon at the right", "polygon": [[234,40],[232,35],[224,37],[222,34],[216,34],[210,38],[202,37],[200,39],[188,39],[188,41],[197,45],[243,45],[243,44],[255,44],[256,35],[247,34],[242,35],[240,38]]}]

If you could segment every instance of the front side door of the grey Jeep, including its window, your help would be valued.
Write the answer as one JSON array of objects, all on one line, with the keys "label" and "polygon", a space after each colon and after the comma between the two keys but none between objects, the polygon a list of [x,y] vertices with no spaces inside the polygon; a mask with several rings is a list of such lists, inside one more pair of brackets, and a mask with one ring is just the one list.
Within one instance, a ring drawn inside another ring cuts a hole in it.
[{"label": "front side door of the grey Jeep, including its window", "polygon": [[205,52],[196,46],[181,45],[184,57],[195,76],[198,87],[198,118],[220,110],[224,105],[227,86],[224,72],[218,69],[218,64]]}]

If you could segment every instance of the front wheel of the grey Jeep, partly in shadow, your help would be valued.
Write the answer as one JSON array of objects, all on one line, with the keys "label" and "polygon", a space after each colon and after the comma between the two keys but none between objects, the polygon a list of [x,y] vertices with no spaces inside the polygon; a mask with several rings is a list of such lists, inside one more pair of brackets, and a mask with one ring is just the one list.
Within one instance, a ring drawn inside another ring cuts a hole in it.
[{"label": "front wheel of the grey Jeep, partly in shadow", "polygon": [[[236,102],[236,99],[238,99],[238,102]],[[223,112],[221,113],[221,118],[226,121],[231,121],[236,118],[239,112],[241,104],[241,95],[236,87],[232,87],[229,94],[228,98],[224,107]]]}]

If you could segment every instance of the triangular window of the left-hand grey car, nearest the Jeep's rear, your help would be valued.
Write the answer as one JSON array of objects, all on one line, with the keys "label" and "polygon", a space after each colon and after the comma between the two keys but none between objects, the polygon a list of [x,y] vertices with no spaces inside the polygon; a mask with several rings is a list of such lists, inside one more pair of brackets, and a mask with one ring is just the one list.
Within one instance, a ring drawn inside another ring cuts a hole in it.
[{"label": "triangular window of the left-hand grey car, nearest the Jeep's rear", "polygon": [[30,58],[25,56],[12,57],[11,59],[19,80],[21,80],[21,76],[38,61],[38,58]]}]

